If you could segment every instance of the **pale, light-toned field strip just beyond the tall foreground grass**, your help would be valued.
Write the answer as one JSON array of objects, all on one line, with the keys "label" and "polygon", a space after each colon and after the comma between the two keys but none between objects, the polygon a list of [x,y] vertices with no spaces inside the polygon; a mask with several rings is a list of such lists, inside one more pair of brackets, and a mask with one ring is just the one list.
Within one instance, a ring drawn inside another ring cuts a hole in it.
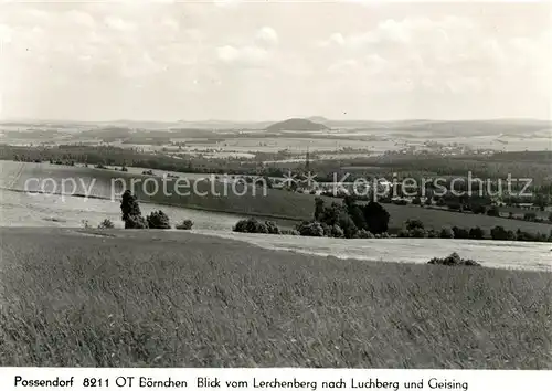
[{"label": "pale, light-toned field strip just beyond the tall foreground grass", "polygon": [[[0,190],[0,221],[4,226],[34,228],[83,228],[84,221],[97,226],[104,219],[110,219],[116,228],[124,228],[118,202],[82,198],[29,196],[20,192]],[[434,255],[446,256],[456,251],[467,257],[477,257],[486,266],[551,271],[550,243],[470,241],[445,239],[375,239],[344,240],[330,237],[306,237],[293,235],[262,235],[232,232],[236,222],[245,216],[230,213],[215,213],[201,210],[159,207],[142,203],[144,214],[161,209],[169,215],[171,223],[182,220],[193,221],[193,232],[233,239],[257,246],[331,255],[361,261],[384,261],[425,263]],[[293,229],[295,222],[274,220],[283,229]],[[500,255],[497,255],[500,254]]]}]

